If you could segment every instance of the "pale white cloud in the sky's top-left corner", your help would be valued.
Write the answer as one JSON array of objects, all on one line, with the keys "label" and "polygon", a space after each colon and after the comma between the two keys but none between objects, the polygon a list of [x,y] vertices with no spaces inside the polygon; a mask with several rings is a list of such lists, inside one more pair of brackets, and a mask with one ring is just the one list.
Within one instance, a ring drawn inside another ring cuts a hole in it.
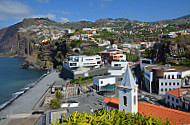
[{"label": "pale white cloud in the sky's top-left corner", "polygon": [[1,0],[0,20],[20,19],[28,16],[32,9],[20,2],[12,0]]}]

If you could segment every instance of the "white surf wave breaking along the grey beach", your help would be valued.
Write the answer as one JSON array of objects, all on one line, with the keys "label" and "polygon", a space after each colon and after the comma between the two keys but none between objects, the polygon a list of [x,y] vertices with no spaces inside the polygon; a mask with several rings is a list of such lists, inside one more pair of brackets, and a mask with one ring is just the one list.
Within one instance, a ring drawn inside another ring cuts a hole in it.
[{"label": "white surf wave breaking along the grey beach", "polygon": [[8,106],[10,103],[12,103],[16,98],[18,98],[19,96],[21,96],[22,94],[24,94],[27,90],[29,90],[30,88],[32,88],[33,86],[35,86],[42,78],[44,78],[47,74],[43,74],[40,78],[38,78],[35,82],[29,83],[28,85],[24,86],[22,89],[20,89],[20,91],[15,92],[12,94],[12,97],[6,101],[5,103],[0,105],[0,110],[2,110],[3,108],[5,108],[6,106]]}]

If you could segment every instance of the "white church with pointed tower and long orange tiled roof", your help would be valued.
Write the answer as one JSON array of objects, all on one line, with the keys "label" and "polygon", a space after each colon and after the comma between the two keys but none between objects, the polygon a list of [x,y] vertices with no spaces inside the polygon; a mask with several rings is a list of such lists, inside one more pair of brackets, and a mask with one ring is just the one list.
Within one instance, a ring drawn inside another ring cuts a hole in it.
[{"label": "white church with pointed tower and long orange tiled roof", "polygon": [[167,117],[172,124],[190,124],[190,113],[182,112],[166,107],[152,105],[145,102],[138,102],[137,85],[127,66],[123,81],[119,86],[119,98],[104,98],[102,101],[104,107],[125,111],[125,113],[141,113],[153,118],[164,119]]}]

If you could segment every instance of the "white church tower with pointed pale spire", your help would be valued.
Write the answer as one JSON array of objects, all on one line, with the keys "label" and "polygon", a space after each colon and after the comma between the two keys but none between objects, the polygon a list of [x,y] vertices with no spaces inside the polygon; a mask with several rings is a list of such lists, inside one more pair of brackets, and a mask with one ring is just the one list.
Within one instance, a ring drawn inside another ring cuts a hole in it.
[{"label": "white church tower with pointed pale spire", "polygon": [[138,85],[127,65],[123,81],[119,86],[119,111],[125,110],[125,113],[138,112]]}]

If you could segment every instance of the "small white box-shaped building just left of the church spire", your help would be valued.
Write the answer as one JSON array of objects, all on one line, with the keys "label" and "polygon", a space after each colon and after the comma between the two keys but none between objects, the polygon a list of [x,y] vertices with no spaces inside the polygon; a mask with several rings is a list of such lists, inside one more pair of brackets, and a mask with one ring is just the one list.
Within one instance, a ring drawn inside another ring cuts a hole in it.
[{"label": "small white box-shaped building just left of the church spire", "polygon": [[110,75],[93,77],[93,87],[98,91],[101,91],[103,86],[115,85],[115,82],[116,77]]}]

